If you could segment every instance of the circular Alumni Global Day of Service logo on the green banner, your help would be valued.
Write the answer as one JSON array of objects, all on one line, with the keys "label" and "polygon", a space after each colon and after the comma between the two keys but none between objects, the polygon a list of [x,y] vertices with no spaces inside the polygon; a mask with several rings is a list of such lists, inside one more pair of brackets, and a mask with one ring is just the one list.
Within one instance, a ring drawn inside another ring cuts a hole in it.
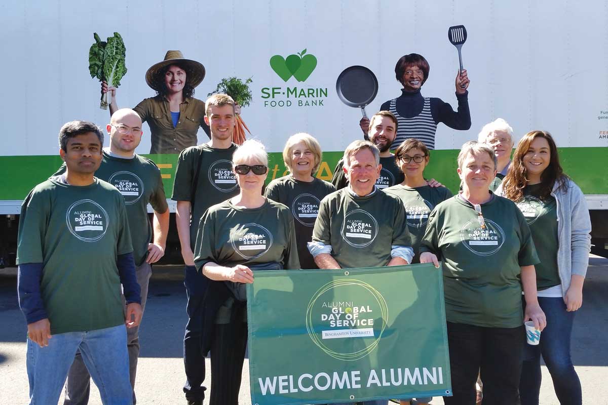
[{"label": "circular Alumni Global Day of Service logo on the green banner", "polygon": [[382,294],[356,279],[328,282],[313,294],[306,308],[309,338],[327,355],[342,361],[361,359],[376,349],[388,319],[389,307]]}]

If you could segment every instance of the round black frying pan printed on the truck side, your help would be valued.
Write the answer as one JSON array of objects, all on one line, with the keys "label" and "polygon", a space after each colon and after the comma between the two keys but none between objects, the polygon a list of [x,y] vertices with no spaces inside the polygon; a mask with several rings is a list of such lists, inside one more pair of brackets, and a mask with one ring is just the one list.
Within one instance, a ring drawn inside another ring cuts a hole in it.
[{"label": "round black frying pan printed on the truck side", "polygon": [[365,66],[347,67],[336,80],[336,92],[342,103],[349,107],[361,108],[363,116],[367,118],[365,106],[378,94],[378,79]]}]

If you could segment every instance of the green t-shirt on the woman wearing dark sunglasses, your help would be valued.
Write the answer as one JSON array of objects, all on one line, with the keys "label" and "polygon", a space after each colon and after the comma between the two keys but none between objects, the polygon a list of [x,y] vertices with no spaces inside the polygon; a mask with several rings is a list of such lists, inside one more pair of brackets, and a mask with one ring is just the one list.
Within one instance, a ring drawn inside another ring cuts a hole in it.
[{"label": "green t-shirt on the woman wearing dark sunglasses", "polygon": [[259,208],[238,208],[230,200],[211,206],[200,220],[194,255],[199,270],[207,262],[300,268],[289,208],[268,199]]}]

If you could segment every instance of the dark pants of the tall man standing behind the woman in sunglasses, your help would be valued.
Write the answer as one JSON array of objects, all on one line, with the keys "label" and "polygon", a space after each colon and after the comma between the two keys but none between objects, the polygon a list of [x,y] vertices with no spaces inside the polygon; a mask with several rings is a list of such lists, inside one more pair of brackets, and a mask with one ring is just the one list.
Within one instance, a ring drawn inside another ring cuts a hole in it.
[{"label": "dark pants of the tall man standing behind the woman in sunglasses", "polygon": [[205,355],[202,353],[202,318],[204,314],[204,280],[202,274],[194,266],[184,268],[184,286],[188,296],[186,311],[188,323],[184,335],[184,369],[186,383],[184,392],[186,398],[192,401],[202,401],[206,388],[202,386],[205,380]]}]

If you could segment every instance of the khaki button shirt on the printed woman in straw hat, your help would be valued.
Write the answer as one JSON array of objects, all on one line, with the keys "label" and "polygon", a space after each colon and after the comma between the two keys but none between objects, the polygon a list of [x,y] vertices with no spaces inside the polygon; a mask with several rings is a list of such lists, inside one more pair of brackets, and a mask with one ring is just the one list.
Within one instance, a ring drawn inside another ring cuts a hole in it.
[{"label": "khaki button shirt on the printed woman in straw hat", "polygon": [[209,126],[204,120],[205,103],[197,98],[187,97],[179,104],[179,120],[175,127],[169,102],[160,95],[146,98],[134,110],[150,126],[151,154],[179,154],[188,146],[196,146],[199,127],[209,136]]}]

